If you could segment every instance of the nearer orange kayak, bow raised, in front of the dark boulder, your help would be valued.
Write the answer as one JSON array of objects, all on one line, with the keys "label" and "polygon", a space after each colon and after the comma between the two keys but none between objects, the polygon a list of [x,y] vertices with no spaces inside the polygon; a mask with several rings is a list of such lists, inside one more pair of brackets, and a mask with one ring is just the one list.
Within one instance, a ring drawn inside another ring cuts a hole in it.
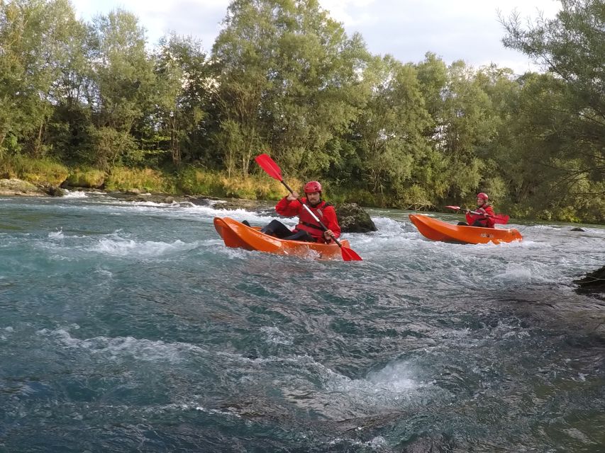
[{"label": "nearer orange kayak, bow raised, in front of the dark boulder", "polygon": [[[286,241],[261,233],[258,228],[246,226],[229,217],[214,217],[214,228],[231,248],[244,248],[278,255],[309,256],[317,254],[323,259],[341,259],[340,247],[327,243]],[[343,247],[350,247],[349,241],[340,241]]]}]

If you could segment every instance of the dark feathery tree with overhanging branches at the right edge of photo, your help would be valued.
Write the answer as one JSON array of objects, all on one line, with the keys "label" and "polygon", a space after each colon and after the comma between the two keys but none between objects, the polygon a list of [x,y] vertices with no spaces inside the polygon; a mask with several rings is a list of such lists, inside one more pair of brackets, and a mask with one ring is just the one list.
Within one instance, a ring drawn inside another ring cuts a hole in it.
[{"label": "dark feathery tree with overhanging branches at the right edge of photo", "polygon": [[[531,57],[552,74],[540,120],[548,120],[538,157],[557,168],[559,179],[551,197],[576,195],[582,210],[605,219],[605,1],[562,0],[554,19],[538,18],[525,25],[517,14],[501,18],[503,42]],[[546,83],[547,81],[545,81]],[[548,100],[547,100],[548,101]],[[532,122],[528,124],[532,127]],[[590,200],[589,203],[582,200]],[[600,201],[599,201],[600,200]]]}]

